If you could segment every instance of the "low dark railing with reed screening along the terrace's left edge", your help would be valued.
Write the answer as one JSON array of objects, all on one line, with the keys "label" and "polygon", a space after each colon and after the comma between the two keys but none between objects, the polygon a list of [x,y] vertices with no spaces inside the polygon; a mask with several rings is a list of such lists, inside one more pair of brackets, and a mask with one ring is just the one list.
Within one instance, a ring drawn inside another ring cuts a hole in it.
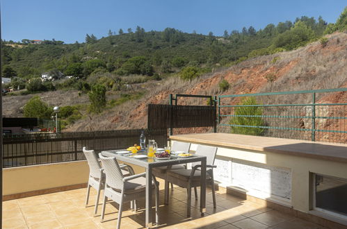
[{"label": "low dark railing with reed screening along the terrace's left edge", "polygon": [[[3,167],[84,160],[83,146],[95,151],[125,149],[138,144],[141,130],[3,135]],[[145,130],[147,139],[166,146],[167,130]]]}]

